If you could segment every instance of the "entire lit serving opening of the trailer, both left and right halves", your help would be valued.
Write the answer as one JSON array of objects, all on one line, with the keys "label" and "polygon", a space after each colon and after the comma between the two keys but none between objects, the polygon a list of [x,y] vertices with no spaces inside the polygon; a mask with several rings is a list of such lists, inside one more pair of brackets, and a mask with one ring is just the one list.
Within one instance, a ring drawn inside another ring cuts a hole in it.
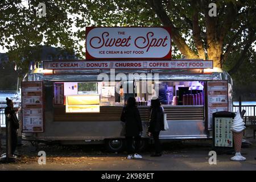
[{"label": "entire lit serving opening of the trailer, both left and right halves", "polygon": [[[134,81],[138,106],[150,106],[156,96],[162,105],[204,105],[204,81]],[[54,105],[65,106],[66,113],[100,113],[101,106],[124,106],[123,82],[55,82]]]}]

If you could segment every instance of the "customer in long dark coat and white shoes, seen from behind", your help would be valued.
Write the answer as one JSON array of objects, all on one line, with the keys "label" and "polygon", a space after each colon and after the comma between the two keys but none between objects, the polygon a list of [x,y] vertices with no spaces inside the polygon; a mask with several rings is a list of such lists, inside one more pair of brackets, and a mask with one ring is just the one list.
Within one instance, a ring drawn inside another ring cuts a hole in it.
[{"label": "customer in long dark coat and white shoes, seen from behind", "polygon": [[[142,122],[141,115],[136,105],[134,97],[129,97],[126,107],[123,108],[121,121],[125,122],[125,138],[127,142],[127,159],[141,159],[142,156],[138,154],[141,143]],[[133,138],[135,140],[135,154],[133,154]]]}]

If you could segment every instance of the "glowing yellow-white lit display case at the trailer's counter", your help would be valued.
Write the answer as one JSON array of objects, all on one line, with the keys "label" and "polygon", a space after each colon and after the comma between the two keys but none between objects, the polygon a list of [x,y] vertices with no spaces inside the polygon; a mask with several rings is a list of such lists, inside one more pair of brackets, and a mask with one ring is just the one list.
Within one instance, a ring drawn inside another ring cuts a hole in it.
[{"label": "glowing yellow-white lit display case at the trailer's counter", "polygon": [[66,96],[66,113],[100,113],[100,96]]}]

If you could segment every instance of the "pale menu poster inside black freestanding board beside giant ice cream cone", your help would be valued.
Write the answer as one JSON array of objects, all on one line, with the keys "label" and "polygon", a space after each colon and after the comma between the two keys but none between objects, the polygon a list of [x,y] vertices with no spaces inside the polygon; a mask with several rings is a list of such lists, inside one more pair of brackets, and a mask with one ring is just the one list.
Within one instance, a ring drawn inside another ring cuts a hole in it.
[{"label": "pale menu poster inside black freestanding board beside giant ice cream cone", "polygon": [[232,122],[233,118],[214,118],[215,147],[233,147]]}]

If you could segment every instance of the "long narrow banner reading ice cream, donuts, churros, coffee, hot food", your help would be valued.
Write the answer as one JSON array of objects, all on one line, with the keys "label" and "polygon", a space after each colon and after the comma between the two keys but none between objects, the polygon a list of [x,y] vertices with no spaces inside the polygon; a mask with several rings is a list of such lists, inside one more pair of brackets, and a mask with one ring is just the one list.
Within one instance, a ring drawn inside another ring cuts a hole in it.
[{"label": "long narrow banner reading ice cream, donuts, churros, coffee, hot food", "polygon": [[44,69],[205,69],[213,68],[213,61],[43,61]]}]

